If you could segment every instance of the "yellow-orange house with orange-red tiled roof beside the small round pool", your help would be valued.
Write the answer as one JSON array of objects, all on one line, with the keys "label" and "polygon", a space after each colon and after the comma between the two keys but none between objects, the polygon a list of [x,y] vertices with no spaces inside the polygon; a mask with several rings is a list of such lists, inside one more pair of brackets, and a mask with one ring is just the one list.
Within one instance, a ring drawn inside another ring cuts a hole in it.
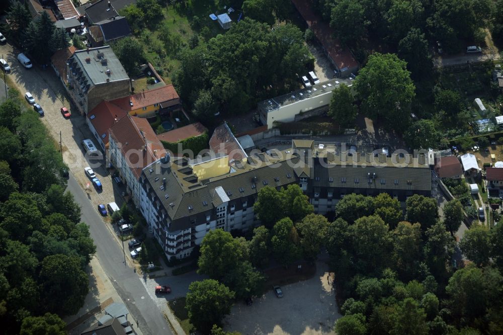
[{"label": "yellow-orange house with orange-red tiled roof beside the small round pool", "polygon": [[127,111],[129,115],[140,118],[154,116],[156,111],[171,113],[182,108],[180,97],[173,85],[115,99],[111,103]]}]

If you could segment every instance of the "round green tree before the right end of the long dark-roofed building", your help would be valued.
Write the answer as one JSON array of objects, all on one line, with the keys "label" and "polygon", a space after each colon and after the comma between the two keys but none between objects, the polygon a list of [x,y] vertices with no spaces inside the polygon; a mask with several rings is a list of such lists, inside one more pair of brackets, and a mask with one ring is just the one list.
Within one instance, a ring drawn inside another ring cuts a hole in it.
[{"label": "round green tree before the right end of the long dark-roofed building", "polygon": [[426,230],[435,224],[438,214],[437,201],[422,195],[414,194],[405,202],[405,219],[412,223],[420,223]]}]

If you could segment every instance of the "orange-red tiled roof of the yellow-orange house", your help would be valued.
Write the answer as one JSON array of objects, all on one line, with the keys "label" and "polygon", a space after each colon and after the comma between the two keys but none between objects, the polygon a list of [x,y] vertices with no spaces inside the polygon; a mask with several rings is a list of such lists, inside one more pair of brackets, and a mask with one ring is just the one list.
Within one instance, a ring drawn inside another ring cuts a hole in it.
[{"label": "orange-red tiled roof of the yellow-orange house", "polygon": [[[119,106],[125,111],[132,111],[139,108],[160,104],[173,99],[180,99],[173,85],[166,85],[157,89],[148,90],[129,97],[112,100],[111,103]],[[132,102],[133,106],[129,103]]]}]

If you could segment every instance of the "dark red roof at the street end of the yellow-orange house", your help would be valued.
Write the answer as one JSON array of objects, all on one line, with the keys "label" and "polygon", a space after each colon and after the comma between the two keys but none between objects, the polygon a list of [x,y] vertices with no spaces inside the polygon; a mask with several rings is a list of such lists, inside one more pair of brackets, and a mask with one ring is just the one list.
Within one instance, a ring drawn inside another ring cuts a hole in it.
[{"label": "dark red roof at the street end of the yellow-orange house", "polygon": [[108,146],[109,129],[112,128],[116,121],[125,117],[126,114],[127,113],[119,107],[104,100],[89,112],[87,117],[93,124],[93,127],[101,137],[105,146]]}]

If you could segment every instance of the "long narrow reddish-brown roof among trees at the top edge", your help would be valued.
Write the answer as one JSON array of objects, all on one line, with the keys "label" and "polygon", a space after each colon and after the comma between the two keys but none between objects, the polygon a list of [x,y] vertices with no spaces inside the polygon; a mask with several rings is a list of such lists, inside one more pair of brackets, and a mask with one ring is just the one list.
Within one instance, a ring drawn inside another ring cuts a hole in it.
[{"label": "long narrow reddish-brown roof among trees at the top edge", "polygon": [[344,48],[341,42],[332,37],[332,29],[327,22],[313,12],[313,4],[307,0],[292,0],[293,4],[304,18],[309,28],[312,29],[316,38],[321,42],[323,48],[342,71],[346,68],[358,67],[358,62],[351,52]]}]

